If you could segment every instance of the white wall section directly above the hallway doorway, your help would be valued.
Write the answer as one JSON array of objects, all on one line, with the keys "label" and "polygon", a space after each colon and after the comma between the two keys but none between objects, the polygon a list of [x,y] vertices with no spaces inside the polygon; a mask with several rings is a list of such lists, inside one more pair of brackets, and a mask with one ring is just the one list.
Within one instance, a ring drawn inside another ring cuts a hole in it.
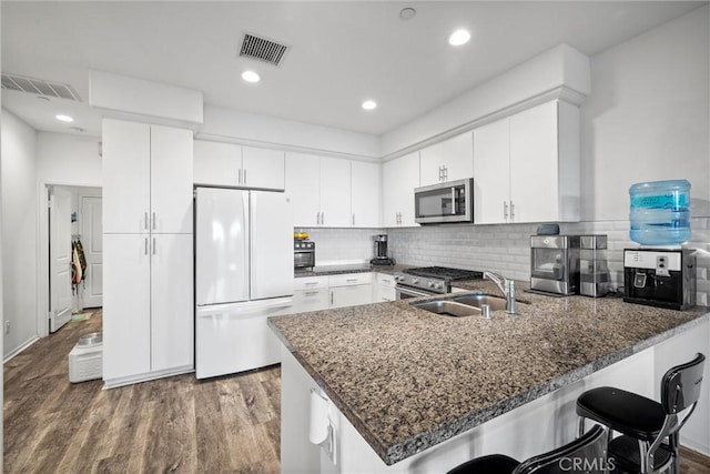
[{"label": "white wall section directly above the hallway doorway", "polygon": [[37,182],[101,186],[101,157],[97,137],[38,132]]}]

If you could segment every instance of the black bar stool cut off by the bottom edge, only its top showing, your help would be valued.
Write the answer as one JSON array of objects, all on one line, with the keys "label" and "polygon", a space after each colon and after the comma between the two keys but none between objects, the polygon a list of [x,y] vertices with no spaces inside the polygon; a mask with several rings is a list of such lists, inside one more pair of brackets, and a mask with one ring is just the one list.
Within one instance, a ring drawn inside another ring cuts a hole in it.
[{"label": "black bar stool cut off by the bottom edge, only its top showing", "polygon": [[521,463],[504,454],[476,457],[447,474],[599,474],[606,472],[607,430],[596,425],[561,447]]}]

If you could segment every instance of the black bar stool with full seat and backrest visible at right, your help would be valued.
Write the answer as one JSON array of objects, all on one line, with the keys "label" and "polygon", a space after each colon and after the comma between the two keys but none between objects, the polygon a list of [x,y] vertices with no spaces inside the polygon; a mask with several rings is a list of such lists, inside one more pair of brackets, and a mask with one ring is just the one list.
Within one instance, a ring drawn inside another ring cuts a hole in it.
[{"label": "black bar stool with full seat and backrest visible at right", "polygon": [[[698,353],[666,372],[661,403],[609,386],[584,392],[577,399],[579,434],[585,432],[585,420],[594,420],[609,427],[610,463],[632,473],[670,467],[672,474],[680,474],[679,432],[698,404],[704,361]],[[615,431],[621,435],[612,438]]]}]

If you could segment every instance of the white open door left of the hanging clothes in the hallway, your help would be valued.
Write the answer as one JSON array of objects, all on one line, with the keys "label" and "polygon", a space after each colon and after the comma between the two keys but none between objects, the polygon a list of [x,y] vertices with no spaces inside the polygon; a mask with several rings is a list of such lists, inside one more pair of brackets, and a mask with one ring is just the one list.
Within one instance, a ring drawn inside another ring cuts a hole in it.
[{"label": "white open door left of the hanging clothes in the hallway", "polygon": [[49,331],[71,320],[71,192],[49,188]]}]

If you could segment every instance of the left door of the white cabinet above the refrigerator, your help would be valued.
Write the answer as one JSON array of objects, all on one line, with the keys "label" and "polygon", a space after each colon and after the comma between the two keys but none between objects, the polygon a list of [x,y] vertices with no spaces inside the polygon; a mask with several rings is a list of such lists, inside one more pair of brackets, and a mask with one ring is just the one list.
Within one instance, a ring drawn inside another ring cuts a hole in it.
[{"label": "left door of the white cabinet above the refrigerator", "polygon": [[236,186],[242,172],[242,147],[195,140],[193,170],[195,184]]}]

